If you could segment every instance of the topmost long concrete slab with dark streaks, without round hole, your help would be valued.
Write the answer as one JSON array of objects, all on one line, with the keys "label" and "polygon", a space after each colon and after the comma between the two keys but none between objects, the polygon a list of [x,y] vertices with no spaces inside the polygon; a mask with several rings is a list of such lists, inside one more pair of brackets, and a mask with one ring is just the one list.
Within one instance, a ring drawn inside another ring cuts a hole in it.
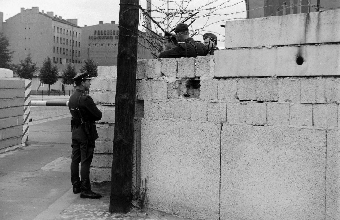
[{"label": "topmost long concrete slab with dark streaks, without round hole", "polygon": [[338,10],[233,20],[226,22],[224,46],[241,48],[339,42],[339,32]]}]

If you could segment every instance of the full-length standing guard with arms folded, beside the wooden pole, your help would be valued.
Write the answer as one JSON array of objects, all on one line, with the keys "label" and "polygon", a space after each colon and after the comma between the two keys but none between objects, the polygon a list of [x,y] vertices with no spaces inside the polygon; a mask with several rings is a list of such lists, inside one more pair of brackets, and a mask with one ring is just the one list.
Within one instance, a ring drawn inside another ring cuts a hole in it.
[{"label": "full-length standing guard with arms folded, beside the wooden pole", "polygon": [[[102,112],[97,108],[91,96],[85,94],[85,91],[90,88],[90,79],[87,71],[79,73],[73,78],[77,88],[68,102],[68,108],[72,115],[71,182],[73,193],[81,193],[80,198],[99,199],[102,196],[91,190],[90,166],[95,141],[98,138],[95,121],[101,120]],[[81,180],[79,178],[79,163],[81,163]]]}]

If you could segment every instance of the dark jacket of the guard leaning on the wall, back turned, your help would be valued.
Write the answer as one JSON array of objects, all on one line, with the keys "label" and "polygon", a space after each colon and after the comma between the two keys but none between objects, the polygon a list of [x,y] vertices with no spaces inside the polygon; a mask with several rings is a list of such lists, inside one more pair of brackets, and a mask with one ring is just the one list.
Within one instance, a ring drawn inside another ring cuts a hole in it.
[{"label": "dark jacket of the guard leaning on the wall, back turned", "polygon": [[207,50],[202,42],[187,38],[184,42],[178,42],[176,47],[160,53],[158,58],[197,57],[206,54]]}]

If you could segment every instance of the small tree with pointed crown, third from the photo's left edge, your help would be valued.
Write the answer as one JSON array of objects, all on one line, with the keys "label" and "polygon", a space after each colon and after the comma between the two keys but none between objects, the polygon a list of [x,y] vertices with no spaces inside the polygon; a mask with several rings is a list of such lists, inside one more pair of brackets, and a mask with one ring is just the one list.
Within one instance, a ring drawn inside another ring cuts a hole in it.
[{"label": "small tree with pointed crown, third from the photo's left edge", "polygon": [[40,80],[48,84],[48,95],[50,95],[50,86],[58,80],[58,68],[52,64],[50,57],[47,57],[43,62],[43,67],[40,68]]}]

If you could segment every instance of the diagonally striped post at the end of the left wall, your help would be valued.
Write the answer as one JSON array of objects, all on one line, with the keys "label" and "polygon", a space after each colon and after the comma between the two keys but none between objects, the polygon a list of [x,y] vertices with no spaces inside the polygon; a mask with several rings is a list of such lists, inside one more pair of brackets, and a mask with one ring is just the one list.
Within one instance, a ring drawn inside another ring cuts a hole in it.
[{"label": "diagonally striped post at the end of the left wall", "polygon": [[25,80],[25,95],[24,95],[24,105],[23,105],[23,125],[22,125],[22,138],[21,145],[26,146],[29,134],[29,119],[30,119],[30,102],[31,102],[31,80]]}]

